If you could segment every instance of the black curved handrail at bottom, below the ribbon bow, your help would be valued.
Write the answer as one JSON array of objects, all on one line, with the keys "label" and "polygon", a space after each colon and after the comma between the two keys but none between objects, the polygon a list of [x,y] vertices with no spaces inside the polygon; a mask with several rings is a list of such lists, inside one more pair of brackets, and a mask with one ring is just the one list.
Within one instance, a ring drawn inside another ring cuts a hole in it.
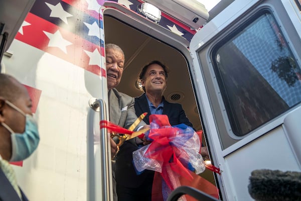
[{"label": "black curved handrail at bottom, below the ribbon bow", "polygon": [[212,197],[211,195],[208,195],[196,188],[190,187],[190,186],[180,186],[176,188],[174,191],[171,192],[169,197],[167,198],[167,201],[176,201],[178,200],[182,195],[188,194],[190,196],[193,196],[194,198],[201,200],[201,201],[218,201],[215,197]]}]

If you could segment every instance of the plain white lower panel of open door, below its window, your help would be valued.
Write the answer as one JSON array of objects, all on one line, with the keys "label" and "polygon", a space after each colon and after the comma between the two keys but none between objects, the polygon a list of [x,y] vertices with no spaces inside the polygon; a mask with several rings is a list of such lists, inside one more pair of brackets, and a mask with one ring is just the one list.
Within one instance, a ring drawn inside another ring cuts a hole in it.
[{"label": "plain white lower panel of open door, below its window", "polygon": [[301,171],[281,126],[226,156],[225,163],[235,200],[244,201],[253,200],[248,193],[253,170]]}]

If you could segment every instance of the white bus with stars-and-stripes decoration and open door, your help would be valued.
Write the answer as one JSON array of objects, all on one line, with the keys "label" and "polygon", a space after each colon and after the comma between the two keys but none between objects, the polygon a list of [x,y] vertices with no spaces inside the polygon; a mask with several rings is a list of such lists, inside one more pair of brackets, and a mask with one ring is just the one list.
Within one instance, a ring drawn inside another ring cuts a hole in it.
[{"label": "white bus with stars-and-stripes decoration and open door", "polygon": [[109,116],[106,43],[124,51],[117,89],[132,97],[145,63],[169,66],[164,96],[203,131],[220,174],[200,176],[219,200],[253,200],[253,170],[301,171],[299,0],[221,0],[209,12],[181,0],[22,2],[1,3],[1,71],[28,88],[39,125],[38,149],[13,165],[30,200],[112,197],[99,129]]}]

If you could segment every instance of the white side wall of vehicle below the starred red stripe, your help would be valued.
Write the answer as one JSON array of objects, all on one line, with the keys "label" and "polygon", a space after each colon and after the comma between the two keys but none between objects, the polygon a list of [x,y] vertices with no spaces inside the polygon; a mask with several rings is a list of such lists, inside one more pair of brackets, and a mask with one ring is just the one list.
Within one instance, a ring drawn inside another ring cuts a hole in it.
[{"label": "white side wall of vehicle below the starred red stripe", "polygon": [[35,114],[40,144],[14,167],[18,183],[30,200],[86,200],[88,100],[101,97],[103,79],[17,40],[10,51],[6,73],[42,90]]}]

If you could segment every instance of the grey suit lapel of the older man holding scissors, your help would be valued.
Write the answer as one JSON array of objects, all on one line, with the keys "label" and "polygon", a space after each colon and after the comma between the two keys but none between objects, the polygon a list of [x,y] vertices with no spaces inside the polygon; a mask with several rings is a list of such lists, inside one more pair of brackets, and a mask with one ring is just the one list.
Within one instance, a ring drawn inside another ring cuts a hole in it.
[{"label": "grey suit lapel of the older man holding scissors", "polygon": [[110,89],[108,92],[109,99],[109,114],[110,122],[118,125],[119,119],[121,116],[121,98],[119,93],[115,93],[113,89]]}]

